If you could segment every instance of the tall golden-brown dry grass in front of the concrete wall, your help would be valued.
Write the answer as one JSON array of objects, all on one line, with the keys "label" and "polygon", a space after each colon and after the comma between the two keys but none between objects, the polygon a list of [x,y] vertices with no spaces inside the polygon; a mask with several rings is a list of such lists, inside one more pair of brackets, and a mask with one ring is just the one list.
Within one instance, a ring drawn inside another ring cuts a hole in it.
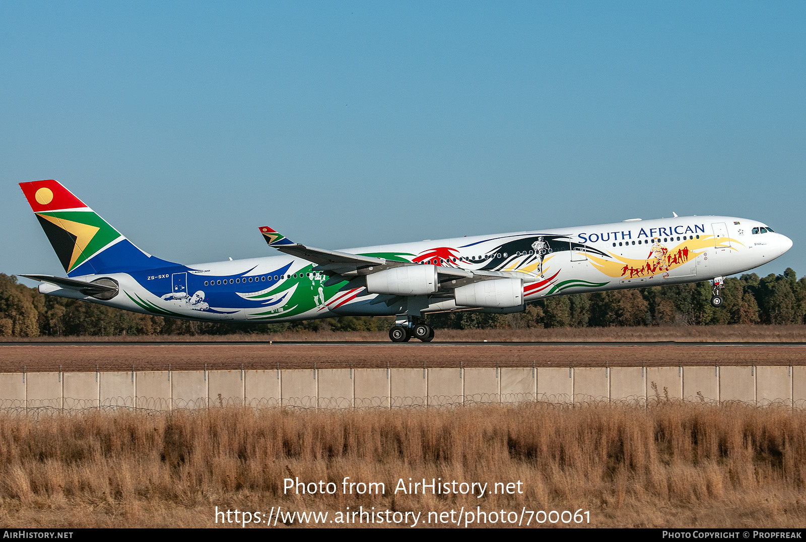
[{"label": "tall golden-brown dry grass in front of the concrete wall", "polygon": [[[215,526],[216,506],[480,506],[582,508],[594,527],[803,528],[804,457],[806,413],[743,405],[2,414],[0,524],[197,528]],[[339,491],[284,494],[289,476]],[[347,476],[386,493],[344,495]],[[409,477],[520,480],[525,493],[394,494]]]}]

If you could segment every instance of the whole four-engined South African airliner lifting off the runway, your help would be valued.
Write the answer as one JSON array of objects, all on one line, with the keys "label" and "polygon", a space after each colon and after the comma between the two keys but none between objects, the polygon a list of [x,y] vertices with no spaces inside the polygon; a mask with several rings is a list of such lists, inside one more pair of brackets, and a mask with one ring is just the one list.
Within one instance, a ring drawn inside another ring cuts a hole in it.
[{"label": "whole four-engined South African airliner lifting off the runway", "polygon": [[528,301],[580,292],[713,282],[792,246],[737,217],[675,217],[557,230],[323,250],[268,226],[280,255],[182,265],[134,246],[55,180],[21,183],[67,278],[22,275],[39,292],[198,321],[287,322],[394,316],[392,341],[430,341],[430,312],[521,312]]}]

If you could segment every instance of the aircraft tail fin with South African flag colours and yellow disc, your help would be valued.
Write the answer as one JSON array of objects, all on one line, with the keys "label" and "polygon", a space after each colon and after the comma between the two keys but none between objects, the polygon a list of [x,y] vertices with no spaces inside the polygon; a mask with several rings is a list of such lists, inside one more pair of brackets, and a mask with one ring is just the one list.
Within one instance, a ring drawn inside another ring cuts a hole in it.
[{"label": "aircraft tail fin with South African flag colours and yellow disc", "polygon": [[56,180],[19,187],[69,277],[176,265],[137,248]]}]

